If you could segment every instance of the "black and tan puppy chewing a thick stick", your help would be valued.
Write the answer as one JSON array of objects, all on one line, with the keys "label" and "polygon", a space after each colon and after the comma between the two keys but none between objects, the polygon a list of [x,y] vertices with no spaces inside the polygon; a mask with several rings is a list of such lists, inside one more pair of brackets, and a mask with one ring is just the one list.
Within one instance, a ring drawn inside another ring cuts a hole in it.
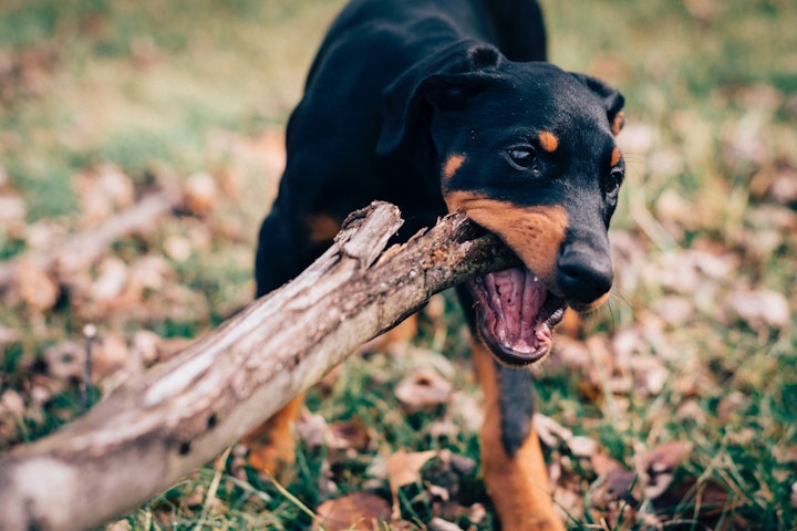
[{"label": "black and tan puppy chewing a thick stick", "polygon": [[[397,205],[407,232],[462,210],[525,264],[459,290],[486,397],[483,472],[505,530],[562,528],[531,424],[531,375],[519,367],[546,356],[566,306],[608,298],[622,105],[602,82],[546,62],[535,1],[354,0],[288,125],[287,168],[260,230],[259,294],[374,199]],[[292,460],[299,407],[249,436],[256,466]]]}]

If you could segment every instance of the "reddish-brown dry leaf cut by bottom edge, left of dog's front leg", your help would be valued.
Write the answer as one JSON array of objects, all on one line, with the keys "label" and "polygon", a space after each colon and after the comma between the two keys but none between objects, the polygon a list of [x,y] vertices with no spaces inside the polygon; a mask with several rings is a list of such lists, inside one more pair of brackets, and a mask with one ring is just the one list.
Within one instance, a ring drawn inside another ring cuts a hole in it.
[{"label": "reddish-brown dry leaf cut by bottom edge, left of dog's front leg", "polygon": [[[327,531],[372,531],[390,517],[390,504],[370,492],[354,492],[321,503],[315,513]],[[313,530],[320,530],[319,522]]]}]

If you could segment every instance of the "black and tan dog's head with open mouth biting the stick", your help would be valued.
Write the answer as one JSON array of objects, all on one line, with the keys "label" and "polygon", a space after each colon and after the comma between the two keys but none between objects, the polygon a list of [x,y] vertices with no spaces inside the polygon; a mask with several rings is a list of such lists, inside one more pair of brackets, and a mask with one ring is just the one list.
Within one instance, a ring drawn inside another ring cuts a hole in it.
[{"label": "black and tan dog's head with open mouth biting the stick", "polygon": [[506,364],[542,358],[566,305],[589,311],[609,296],[623,96],[462,43],[407,71],[385,106],[377,152],[414,143],[432,154],[449,211],[498,235],[525,264],[469,282],[484,340]]}]

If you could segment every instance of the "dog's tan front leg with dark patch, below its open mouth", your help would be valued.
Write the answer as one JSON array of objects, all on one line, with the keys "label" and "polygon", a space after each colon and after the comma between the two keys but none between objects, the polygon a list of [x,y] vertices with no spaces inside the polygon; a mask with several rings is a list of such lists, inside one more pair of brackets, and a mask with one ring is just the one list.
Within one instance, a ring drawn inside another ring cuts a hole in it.
[{"label": "dog's tan front leg with dark patch, below its open mouth", "polygon": [[482,471],[504,531],[563,530],[534,427],[531,373],[498,365],[482,341],[474,362],[485,395]]}]

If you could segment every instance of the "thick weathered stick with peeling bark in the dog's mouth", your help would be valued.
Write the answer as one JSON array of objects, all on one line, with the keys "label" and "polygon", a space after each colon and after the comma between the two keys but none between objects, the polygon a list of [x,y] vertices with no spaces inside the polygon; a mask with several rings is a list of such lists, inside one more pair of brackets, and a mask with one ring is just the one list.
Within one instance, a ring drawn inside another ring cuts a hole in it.
[{"label": "thick weathered stick with peeling bark in the dog's mouth", "polygon": [[354,212],[292,282],[72,425],[0,458],[0,529],[90,529],[135,508],[432,294],[515,263],[459,214],[383,252],[401,223],[384,202]]}]

